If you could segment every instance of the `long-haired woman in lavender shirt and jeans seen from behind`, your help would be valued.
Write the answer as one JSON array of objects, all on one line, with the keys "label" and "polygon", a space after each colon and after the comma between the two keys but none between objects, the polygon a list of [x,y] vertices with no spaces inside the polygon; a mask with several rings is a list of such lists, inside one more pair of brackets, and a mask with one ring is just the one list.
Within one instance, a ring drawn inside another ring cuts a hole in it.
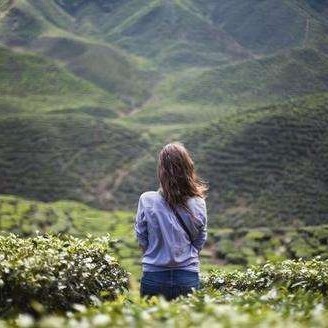
[{"label": "long-haired woman in lavender shirt and jeans seen from behind", "polygon": [[140,196],[135,232],[143,251],[140,294],[172,300],[199,289],[199,252],[207,237],[206,184],[187,149],[167,144],[158,157],[159,189]]}]

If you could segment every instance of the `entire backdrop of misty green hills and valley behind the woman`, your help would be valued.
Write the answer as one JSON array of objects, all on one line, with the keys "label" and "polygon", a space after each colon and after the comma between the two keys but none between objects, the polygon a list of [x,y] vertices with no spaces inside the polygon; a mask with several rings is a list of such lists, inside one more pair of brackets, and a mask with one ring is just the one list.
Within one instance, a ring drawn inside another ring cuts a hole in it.
[{"label": "entire backdrop of misty green hills and valley behind the woman", "polygon": [[3,0],[0,193],[135,210],[184,142],[213,225],[328,222],[328,2]]}]

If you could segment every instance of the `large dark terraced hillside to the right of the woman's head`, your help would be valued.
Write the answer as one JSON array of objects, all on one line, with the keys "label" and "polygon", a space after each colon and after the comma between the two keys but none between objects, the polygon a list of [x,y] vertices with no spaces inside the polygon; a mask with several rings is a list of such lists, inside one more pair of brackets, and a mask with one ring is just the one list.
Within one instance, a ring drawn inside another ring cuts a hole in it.
[{"label": "large dark terraced hillside to the right of the woman's head", "polygon": [[188,131],[219,227],[327,222],[327,97],[226,115]]}]

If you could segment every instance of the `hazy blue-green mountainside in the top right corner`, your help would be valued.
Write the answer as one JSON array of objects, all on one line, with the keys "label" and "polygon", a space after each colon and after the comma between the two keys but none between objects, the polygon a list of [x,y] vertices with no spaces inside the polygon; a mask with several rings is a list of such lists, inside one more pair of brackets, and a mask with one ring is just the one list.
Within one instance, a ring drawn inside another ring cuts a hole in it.
[{"label": "hazy blue-green mountainside in the top right corner", "polygon": [[325,1],[223,0],[195,3],[243,47],[263,54],[312,43],[326,29]]}]

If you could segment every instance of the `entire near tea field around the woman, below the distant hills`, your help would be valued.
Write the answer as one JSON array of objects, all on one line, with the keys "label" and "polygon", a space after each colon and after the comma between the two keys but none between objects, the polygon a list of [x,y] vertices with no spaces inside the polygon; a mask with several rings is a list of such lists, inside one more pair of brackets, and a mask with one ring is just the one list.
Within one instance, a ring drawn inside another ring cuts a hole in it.
[{"label": "entire near tea field around the woman, below the distant hills", "polygon": [[16,233],[0,236],[3,327],[326,325],[327,226],[210,228],[201,290],[147,301],[134,213],[12,196],[0,204],[2,229]]}]

